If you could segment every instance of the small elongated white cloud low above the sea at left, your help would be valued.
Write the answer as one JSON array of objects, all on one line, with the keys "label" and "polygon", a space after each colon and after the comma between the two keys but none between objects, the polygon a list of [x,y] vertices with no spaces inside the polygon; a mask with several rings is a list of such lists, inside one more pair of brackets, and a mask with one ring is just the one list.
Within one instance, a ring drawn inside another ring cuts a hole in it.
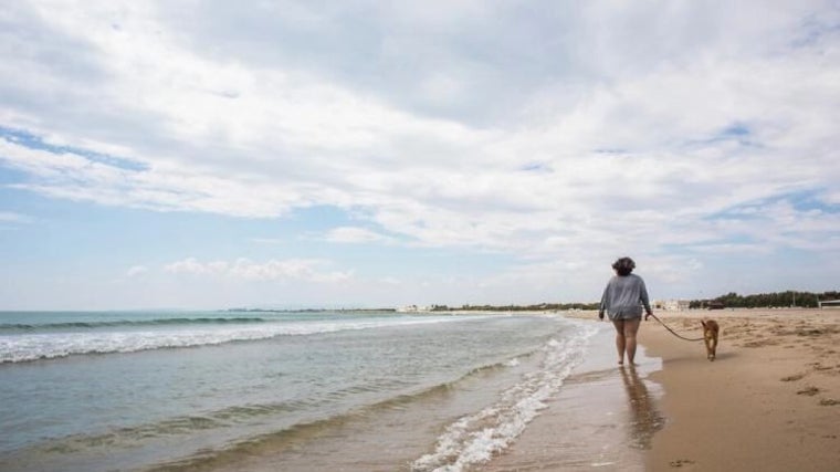
[{"label": "small elongated white cloud low above the sea at left", "polygon": [[288,259],[253,262],[248,259],[235,261],[200,262],[187,258],[167,264],[166,272],[174,274],[192,274],[201,276],[223,276],[248,281],[284,281],[301,280],[307,282],[333,283],[351,277],[351,272],[322,271],[321,268],[329,262],[314,259]]}]

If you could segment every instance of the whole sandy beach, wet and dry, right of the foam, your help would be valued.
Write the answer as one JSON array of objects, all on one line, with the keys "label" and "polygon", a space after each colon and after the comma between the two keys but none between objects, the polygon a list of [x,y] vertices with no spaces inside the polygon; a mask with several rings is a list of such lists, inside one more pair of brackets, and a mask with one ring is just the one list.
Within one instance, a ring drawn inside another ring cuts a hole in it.
[{"label": "whole sandy beach, wet and dry, right of the foam", "polygon": [[[479,470],[840,470],[840,311],[658,316],[689,338],[702,336],[700,319],[716,319],[717,359],[653,318],[642,324],[636,368],[617,367],[611,336],[601,337],[596,378],[569,378],[516,444]],[[569,415],[588,419],[567,431]]]}]

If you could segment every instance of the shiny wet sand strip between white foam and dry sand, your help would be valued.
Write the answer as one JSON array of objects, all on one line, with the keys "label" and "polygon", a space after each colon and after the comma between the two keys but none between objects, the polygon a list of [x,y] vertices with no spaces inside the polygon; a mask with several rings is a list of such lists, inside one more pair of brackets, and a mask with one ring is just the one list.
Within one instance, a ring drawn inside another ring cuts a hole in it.
[{"label": "shiny wet sand strip between white foam and dry sand", "polygon": [[661,368],[643,349],[638,366],[618,367],[611,326],[516,442],[475,471],[643,471],[645,451],[664,423],[662,390],[649,376]]}]

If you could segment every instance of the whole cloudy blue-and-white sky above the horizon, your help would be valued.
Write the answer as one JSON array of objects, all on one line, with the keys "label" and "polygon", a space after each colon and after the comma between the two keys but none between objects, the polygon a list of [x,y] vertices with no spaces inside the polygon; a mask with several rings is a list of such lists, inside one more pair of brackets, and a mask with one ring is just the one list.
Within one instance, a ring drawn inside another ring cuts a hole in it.
[{"label": "whole cloudy blue-and-white sky above the horizon", "polygon": [[840,290],[838,1],[10,1],[0,310]]}]

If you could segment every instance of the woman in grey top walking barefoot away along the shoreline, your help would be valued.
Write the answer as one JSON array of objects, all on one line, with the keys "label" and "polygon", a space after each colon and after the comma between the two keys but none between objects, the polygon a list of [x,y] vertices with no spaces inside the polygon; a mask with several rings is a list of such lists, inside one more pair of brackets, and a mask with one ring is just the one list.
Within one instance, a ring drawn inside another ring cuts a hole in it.
[{"label": "woman in grey top walking barefoot away along the shoreline", "polygon": [[627,353],[627,360],[633,365],[636,334],[642,321],[642,307],[645,321],[653,312],[650,310],[644,281],[631,273],[636,269],[636,262],[630,258],[621,258],[612,264],[612,269],[616,270],[616,276],[610,279],[603,290],[598,318],[603,319],[606,311],[612,325],[616,326],[618,364],[624,364],[624,353]]}]

